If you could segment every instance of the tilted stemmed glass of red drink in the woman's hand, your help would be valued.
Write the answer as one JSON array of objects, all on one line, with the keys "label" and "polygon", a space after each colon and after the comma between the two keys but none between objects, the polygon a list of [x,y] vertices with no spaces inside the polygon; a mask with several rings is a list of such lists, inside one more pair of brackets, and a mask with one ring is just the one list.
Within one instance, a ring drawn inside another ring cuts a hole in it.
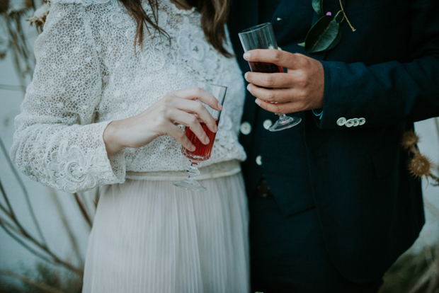
[{"label": "tilted stemmed glass of red drink in the woman's hand", "polygon": [[[226,96],[227,86],[217,86],[216,84],[208,84],[203,81],[194,81],[193,86],[198,86],[199,88],[203,88],[208,93],[211,93],[212,96],[217,98],[218,102],[222,105],[224,103],[224,98]],[[201,103],[201,102],[200,102]],[[207,111],[209,111],[210,115],[214,117],[217,122],[217,125],[220,123],[220,115],[221,111],[210,108],[209,105],[203,103]],[[190,161],[190,167],[186,170],[188,173],[188,178],[183,179],[178,182],[173,182],[173,185],[178,186],[179,188],[186,188],[188,190],[196,190],[196,191],[205,191],[207,190],[204,186],[200,185],[197,180],[195,180],[195,176],[200,174],[198,171],[198,164],[201,161],[206,161],[210,159],[210,154],[212,153],[212,146],[215,142],[215,136],[217,135],[215,132],[211,132],[205,122],[200,121],[201,127],[206,132],[207,137],[209,137],[209,143],[203,144],[200,142],[200,139],[190,130],[190,127],[186,127],[186,137],[190,140],[190,142],[195,145],[195,151],[189,151],[184,146],[181,147],[181,154],[186,156],[186,158]]]}]

